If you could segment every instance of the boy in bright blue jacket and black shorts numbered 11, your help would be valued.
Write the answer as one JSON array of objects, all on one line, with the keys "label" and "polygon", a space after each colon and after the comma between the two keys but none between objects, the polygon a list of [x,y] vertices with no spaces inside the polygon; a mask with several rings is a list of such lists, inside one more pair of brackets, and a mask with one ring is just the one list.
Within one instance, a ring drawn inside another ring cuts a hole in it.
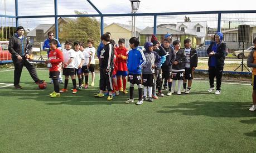
[{"label": "boy in bright blue jacket and black shorts numbered 11", "polygon": [[133,90],[134,84],[138,85],[139,90],[139,100],[136,103],[137,105],[143,104],[142,100],[142,76],[141,76],[141,68],[146,64],[146,58],[141,49],[138,49],[139,39],[136,37],[132,37],[129,39],[130,47],[132,50],[128,53],[127,59],[127,68],[128,68],[128,81],[130,82],[130,99],[125,101],[125,103],[133,103]]}]

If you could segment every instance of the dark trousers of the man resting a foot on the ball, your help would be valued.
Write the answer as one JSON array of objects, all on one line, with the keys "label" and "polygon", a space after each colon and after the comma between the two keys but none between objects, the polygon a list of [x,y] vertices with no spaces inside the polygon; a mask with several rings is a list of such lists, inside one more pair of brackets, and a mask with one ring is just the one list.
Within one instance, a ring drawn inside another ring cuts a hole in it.
[{"label": "dark trousers of the man resting a foot on the ball", "polygon": [[33,64],[28,63],[25,57],[22,57],[22,60],[18,60],[17,58],[12,58],[13,64],[15,65],[14,71],[14,85],[18,85],[21,79],[21,73],[23,66],[27,68],[28,72],[30,73],[31,78],[36,82],[38,81],[38,77],[36,74],[36,68]]}]

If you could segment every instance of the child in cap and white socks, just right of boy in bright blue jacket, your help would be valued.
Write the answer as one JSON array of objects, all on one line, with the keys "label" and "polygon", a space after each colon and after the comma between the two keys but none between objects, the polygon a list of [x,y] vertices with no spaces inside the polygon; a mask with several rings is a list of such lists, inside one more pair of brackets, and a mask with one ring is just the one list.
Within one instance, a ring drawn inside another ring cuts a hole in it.
[{"label": "child in cap and white socks, just right of boy in bright blue jacket", "polygon": [[148,90],[148,101],[152,102],[152,86],[154,84],[154,69],[159,67],[160,65],[160,56],[153,51],[153,43],[146,42],[144,44],[144,56],[147,60],[146,64],[142,68],[142,78],[143,78],[143,85],[144,85],[144,95],[143,100],[147,99],[147,90]]}]

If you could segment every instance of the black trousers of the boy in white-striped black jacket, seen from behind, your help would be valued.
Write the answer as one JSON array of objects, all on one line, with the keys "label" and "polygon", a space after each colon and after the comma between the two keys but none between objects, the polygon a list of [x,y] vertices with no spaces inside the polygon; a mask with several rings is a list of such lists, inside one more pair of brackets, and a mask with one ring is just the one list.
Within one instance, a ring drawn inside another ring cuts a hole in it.
[{"label": "black trousers of the boy in white-striped black jacket, seen from behind", "polygon": [[106,72],[105,69],[100,68],[100,90],[104,91],[106,86],[108,91],[113,91],[112,70]]}]

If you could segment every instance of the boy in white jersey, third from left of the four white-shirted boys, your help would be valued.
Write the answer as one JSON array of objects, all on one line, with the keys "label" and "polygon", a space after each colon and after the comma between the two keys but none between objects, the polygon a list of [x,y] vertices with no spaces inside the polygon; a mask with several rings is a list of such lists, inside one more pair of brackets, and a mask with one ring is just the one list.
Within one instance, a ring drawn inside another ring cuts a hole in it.
[{"label": "boy in white jersey, third from left of the four white-shirted boys", "polygon": [[85,85],[84,88],[88,88],[88,74],[89,74],[89,67],[90,67],[90,62],[91,62],[91,55],[84,49],[84,43],[80,42],[80,51],[84,54],[84,64],[82,67],[82,77],[84,76],[85,79]]}]

